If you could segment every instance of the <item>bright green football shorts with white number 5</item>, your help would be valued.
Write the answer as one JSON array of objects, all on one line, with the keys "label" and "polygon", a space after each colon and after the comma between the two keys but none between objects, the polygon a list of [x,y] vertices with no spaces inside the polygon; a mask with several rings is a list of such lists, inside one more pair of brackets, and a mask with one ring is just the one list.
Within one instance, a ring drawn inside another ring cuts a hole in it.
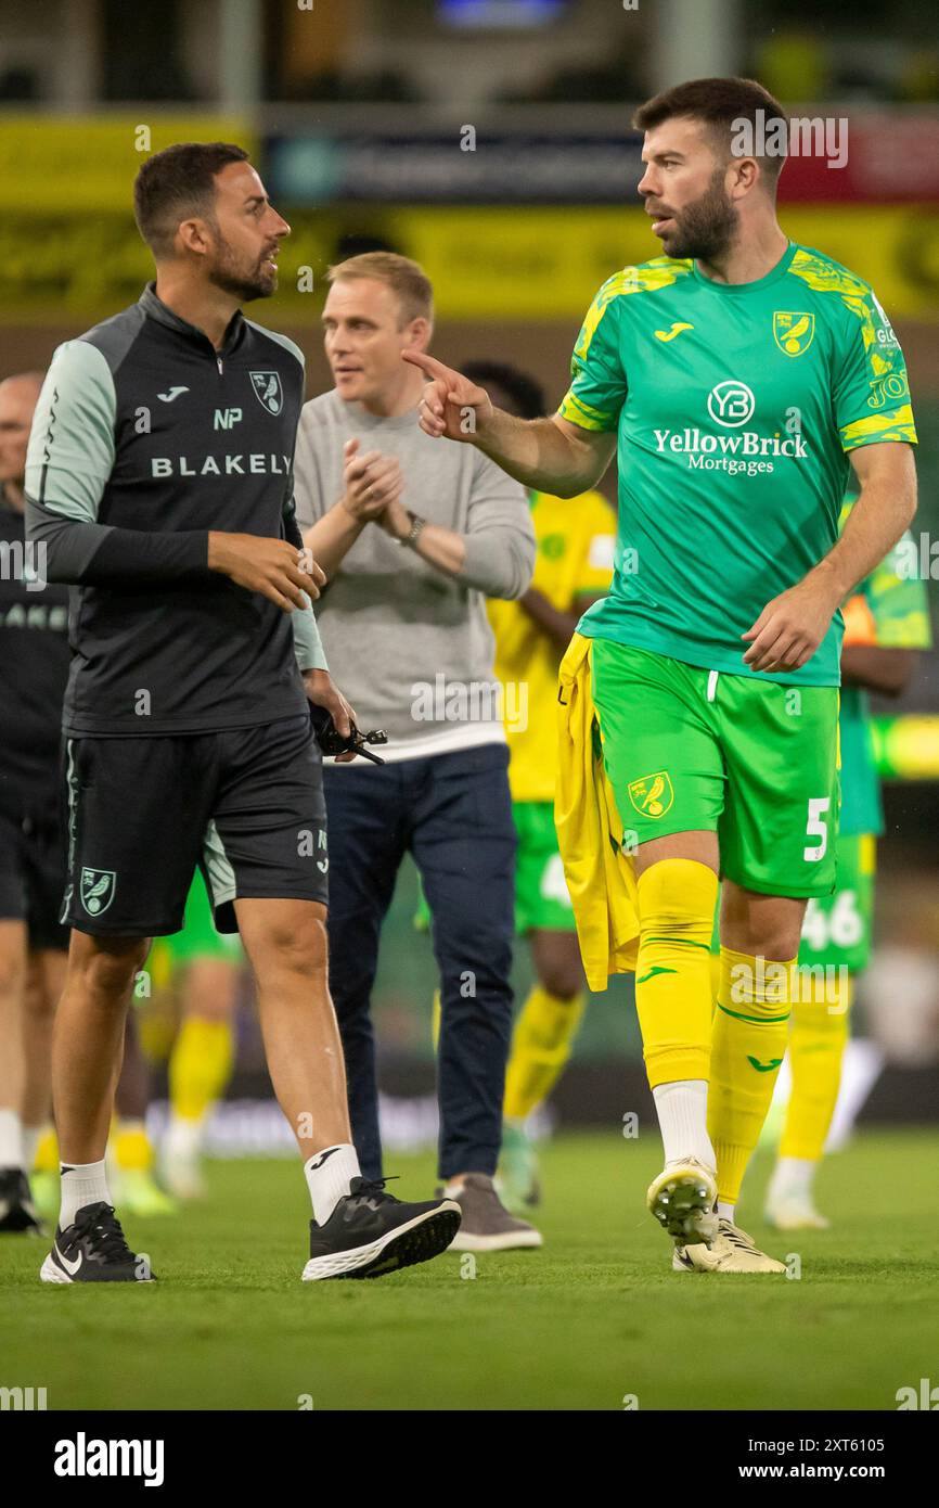
[{"label": "bright green football shorts with white number 5", "polygon": [[737,885],[830,896],[837,686],[729,676],[612,639],[594,639],[591,667],[624,846],[710,831]]}]

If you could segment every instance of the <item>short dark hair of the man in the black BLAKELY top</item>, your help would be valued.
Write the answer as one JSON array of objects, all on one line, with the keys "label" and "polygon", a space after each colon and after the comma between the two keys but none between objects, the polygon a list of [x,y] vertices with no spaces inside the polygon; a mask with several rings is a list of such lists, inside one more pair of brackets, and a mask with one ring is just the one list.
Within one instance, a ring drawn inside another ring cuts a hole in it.
[{"label": "short dark hair of the man in the black BLAKELY top", "polygon": [[169,256],[181,220],[214,219],[216,173],[247,161],[231,142],[179,142],[154,152],[134,181],[134,219],[154,256]]}]

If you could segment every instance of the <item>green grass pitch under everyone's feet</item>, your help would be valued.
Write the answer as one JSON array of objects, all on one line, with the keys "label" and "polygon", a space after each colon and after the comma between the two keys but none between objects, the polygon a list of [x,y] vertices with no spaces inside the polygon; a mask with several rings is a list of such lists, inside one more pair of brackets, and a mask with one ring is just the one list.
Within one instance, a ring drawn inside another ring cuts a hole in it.
[{"label": "green grass pitch under everyone's feet", "polygon": [[[657,1139],[544,1151],[541,1252],[457,1253],[375,1282],[300,1283],[309,1209],[291,1163],[210,1164],[211,1197],[128,1220],[161,1279],[47,1286],[39,1243],[0,1240],[0,1384],[48,1408],[883,1408],[936,1378],[931,1133],[862,1133],[818,1181],[827,1232],[773,1235],[769,1170],[742,1223],[802,1276],[672,1274],[645,1212]],[[430,1157],[392,1157],[427,1197]],[[306,1407],[310,1404],[306,1402]]]}]

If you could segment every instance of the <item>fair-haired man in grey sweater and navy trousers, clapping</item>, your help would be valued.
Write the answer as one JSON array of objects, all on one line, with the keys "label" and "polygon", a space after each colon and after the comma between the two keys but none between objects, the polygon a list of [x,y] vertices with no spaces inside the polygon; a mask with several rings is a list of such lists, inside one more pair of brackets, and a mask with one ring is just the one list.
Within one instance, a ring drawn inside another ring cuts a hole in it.
[{"label": "fair-haired man in grey sweater and navy trousers, clapping", "polygon": [[[503,716],[523,688],[493,677],[485,597],[520,597],[535,559],[525,490],[470,446],[419,428],[431,285],[369,252],[330,268],[335,389],[303,409],[297,519],[327,576],[329,664],[362,724],[387,730],[384,766],[327,766],[330,988],[353,1136],[381,1175],[371,989],[401,860],[418,864],[440,968],[440,1176],[460,1202],[454,1249],[540,1246],[493,1187],[511,1036],[515,831]],[[521,691],[521,697],[518,697]]]}]

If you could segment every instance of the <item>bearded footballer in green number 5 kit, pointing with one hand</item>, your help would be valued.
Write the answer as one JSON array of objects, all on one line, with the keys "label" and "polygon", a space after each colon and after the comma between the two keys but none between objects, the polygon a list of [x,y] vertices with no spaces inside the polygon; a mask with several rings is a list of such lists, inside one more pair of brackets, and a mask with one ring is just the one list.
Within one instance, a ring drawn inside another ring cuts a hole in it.
[{"label": "bearded footballer in green number 5 kit, pointing with one hand", "polygon": [[588,980],[636,971],[665,1151],[647,1203],[683,1273],[785,1271],[734,1211],[805,908],[835,885],[840,606],[915,513],[897,338],[862,277],[779,226],[767,121],[785,139],[781,104],[748,78],[692,80],[636,112],[665,255],[603,284],[552,419],[407,357],[430,379],[425,431],[525,486],[576,498],[616,454],[613,585],[561,665],[555,814]]}]

